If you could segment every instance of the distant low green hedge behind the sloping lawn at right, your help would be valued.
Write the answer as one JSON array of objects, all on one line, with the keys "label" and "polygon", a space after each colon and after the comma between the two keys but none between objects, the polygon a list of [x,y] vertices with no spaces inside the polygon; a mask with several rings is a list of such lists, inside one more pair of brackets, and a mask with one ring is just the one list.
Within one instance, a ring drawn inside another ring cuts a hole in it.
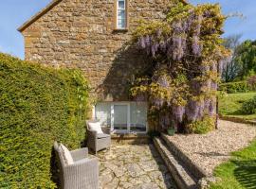
[{"label": "distant low green hedge behind the sloping lawn at right", "polygon": [[247,81],[223,83],[220,84],[219,90],[227,92],[228,94],[247,93],[249,91],[254,91],[252,87],[248,85]]}]

